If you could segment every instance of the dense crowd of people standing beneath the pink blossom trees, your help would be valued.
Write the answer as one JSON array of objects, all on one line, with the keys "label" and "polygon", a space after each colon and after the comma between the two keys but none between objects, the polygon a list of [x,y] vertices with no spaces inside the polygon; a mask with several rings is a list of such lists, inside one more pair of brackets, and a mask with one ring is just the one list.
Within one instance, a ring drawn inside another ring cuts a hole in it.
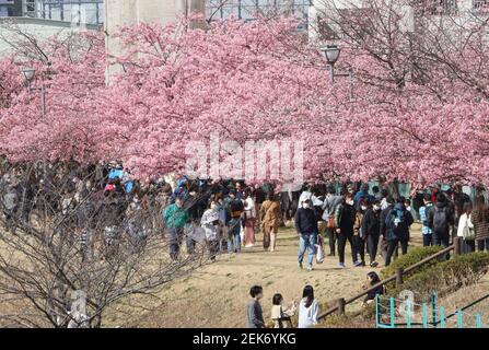
[{"label": "dense crowd of people standing beneath the pink blossom trees", "polygon": [[[273,252],[279,226],[291,220],[300,236],[298,266],[303,268],[307,254],[307,270],[313,269],[316,246],[323,242],[319,236],[328,242],[328,255],[338,256],[339,268],[346,267],[347,244],[353,266],[369,264],[375,268],[379,256],[388,266],[399,246],[401,254],[407,253],[415,219],[422,224],[424,246],[446,247],[459,236],[464,252],[489,249],[486,198],[478,194],[471,203],[459,186],[444,191],[436,186],[419,189],[404,198],[387,187],[370,189],[368,184],[304,185],[300,191],[286,191],[272,184],[247,186],[243,180],[185,176],[139,183],[116,163],[89,172],[90,176],[86,173],[82,176],[68,166],[51,172],[44,168],[38,174],[32,172],[26,183],[20,179],[19,168],[4,172],[0,187],[7,221],[15,217],[28,220],[28,210],[35,206],[25,202],[35,201],[42,188],[51,207],[63,213],[83,205],[85,211],[103,218],[106,241],[120,231],[130,232],[137,241],[143,241],[151,231],[167,235],[174,259],[184,241],[189,254],[196,244],[205,244],[211,258],[225,252],[238,254],[256,245],[258,232],[263,248]],[[49,188],[57,189],[56,196]],[[82,200],[86,196],[90,201]],[[90,215],[83,210],[77,212],[81,212],[80,221]]]}]

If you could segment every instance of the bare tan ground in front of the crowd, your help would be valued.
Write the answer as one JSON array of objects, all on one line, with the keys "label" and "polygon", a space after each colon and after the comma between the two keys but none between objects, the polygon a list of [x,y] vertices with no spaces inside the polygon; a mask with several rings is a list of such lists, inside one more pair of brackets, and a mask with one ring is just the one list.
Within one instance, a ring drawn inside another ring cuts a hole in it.
[{"label": "bare tan ground in front of the crowd", "polygon": [[[421,235],[415,224],[411,245],[419,245]],[[361,291],[370,267],[352,267],[347,252],[346,269],[337,269],[337,258],[327,257],[307,272],[296,266],[298,237],[292,229],[281,229],[275,253],[257,246],[238,255],[223,255],[193,276],[175,281],[155,298],[131,298],[118,312],[106,318],[105,326],[117,327],[243,327],[246,319],[248,290],[253,284],[265,289],[263,302],[269,319],[271,298],[280,292],[286,303],[301,299],[302,289],[312,284],[325,308],[328,302]],[[381,270],[382,266],[376,270]],[[359,307],[359,303],[353,304]],[[350,308],[351,310],[351,308]],[[126,315],[121,315],[125,312]]]}]

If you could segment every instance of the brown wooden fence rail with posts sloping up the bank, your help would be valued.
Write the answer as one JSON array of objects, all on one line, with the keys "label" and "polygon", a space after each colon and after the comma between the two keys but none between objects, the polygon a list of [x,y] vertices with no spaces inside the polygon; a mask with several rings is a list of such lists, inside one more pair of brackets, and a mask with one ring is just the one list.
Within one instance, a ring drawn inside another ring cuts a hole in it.
[{"label": "brown wooden fence rail with posts sloping up the bank", "polygon": [[415,265],[408,267],[406,270],[403,270],[401,268],[396,269],[396,273],[394,276],[391,276],[389,278],[386,278],[385,280],[379,282],[375,285],[372,285],[371,288],[364,290],[363,292],[351,296],[349,299],[345,299],[345,298],[340,298],[336,300],[336,305],[330,307],[329,310],[327,310],[326,312],[324,312],[323,314],[321,314],[317,319],[323,319],[328,315],[331,315],[334,313],[338,313],[340,315],[344,315],[346,312],[346,306],[348,304],[351,304],[352,302],[359,300],[362,296],[365,296],[369,292],[377,289],[381,285],[385,285],[387,283],[391,283],[393,281],[396,282],[396,285],[403,284],[403,278],[405,275],[420,268],[421,266],[426,265],[427,262],[430,262],[433,259],[436,259],[443,255],[446,255],[447,253],[450,253],[451,250],[454,250],[454,255],[459,255],[461,254],[461,244],[459,244],[459,238],[458,237],[454,237],[453,240],[453,245],[422,259],[419,262],[416,262]]}]

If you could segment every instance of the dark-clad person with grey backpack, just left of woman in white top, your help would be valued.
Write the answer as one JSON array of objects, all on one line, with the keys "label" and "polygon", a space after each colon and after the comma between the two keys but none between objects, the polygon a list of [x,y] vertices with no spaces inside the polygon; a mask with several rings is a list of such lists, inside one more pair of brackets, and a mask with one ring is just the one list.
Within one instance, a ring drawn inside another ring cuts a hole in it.
[{"label": "dark-clad person with grey backpack, just left of woman in white top", "polygon": [[[433,245],[443,247],[450,246],[451,228],[455,224],[454,211],[449,206],[449,200],[444,194],[436,196],[436,202],[433,210],[429,212],[428,224],[432,230]],[[450,254],[446,255],[446,258]]]}]

